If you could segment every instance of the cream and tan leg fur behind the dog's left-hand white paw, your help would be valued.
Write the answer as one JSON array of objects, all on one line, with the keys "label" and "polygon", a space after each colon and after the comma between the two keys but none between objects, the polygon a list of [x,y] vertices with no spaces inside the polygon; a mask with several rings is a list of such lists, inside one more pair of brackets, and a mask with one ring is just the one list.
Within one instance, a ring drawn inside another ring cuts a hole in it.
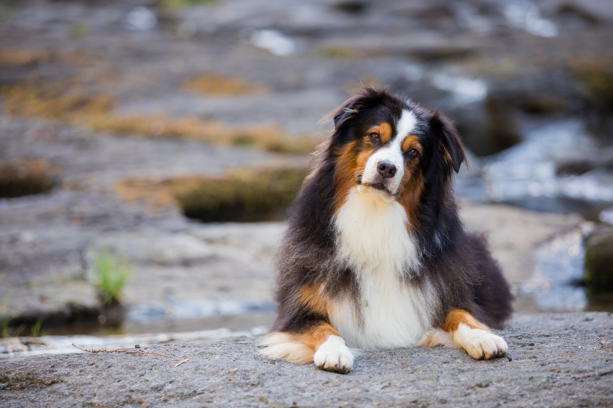
[{"label": "cream and tan leg fur behind the dog's left-hand white paw", "polygon": [[299,334],[276,331],[264,336],[261,344],[267,347],[260,353],[269,358],[283,358],[289,363],[313,363],[314,353],[331,335],[340,337],[328,323],[321,323]]}]

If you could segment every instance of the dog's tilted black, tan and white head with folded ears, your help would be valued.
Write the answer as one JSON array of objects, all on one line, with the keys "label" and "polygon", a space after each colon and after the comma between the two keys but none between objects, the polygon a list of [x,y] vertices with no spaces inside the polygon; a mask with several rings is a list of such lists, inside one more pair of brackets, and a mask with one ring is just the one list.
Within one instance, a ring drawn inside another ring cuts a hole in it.
[{"label": "dog's tilted black, tan and white head with folded ears", "polygon": [[326,156],[335,161],[337,197],[356,187],[415,208],[424,189],[446,187],[466,161],[449,119],[385,89],[365,88],[331,116]]}]

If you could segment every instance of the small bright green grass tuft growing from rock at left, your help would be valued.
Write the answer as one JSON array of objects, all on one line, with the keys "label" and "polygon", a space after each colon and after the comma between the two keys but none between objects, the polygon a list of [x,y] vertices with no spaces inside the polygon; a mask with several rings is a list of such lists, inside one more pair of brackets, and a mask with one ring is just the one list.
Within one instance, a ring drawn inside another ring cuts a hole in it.
[{"label": "small bright green grass tuft growing from rock at left", "polygon": [[113,256],[108,250],[96,252],[92,258],[96,266],[94,284],[102,304],[115,301],[123,304],[123,290],[132,274],[128,262]]}]

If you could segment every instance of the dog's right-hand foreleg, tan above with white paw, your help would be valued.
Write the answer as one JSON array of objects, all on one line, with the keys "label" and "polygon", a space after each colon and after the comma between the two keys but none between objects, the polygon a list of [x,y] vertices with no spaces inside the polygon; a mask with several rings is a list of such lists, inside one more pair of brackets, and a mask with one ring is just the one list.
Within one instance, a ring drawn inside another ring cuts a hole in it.
[{"label": "dog's right-hand foreleg, tan above with white paw", "polygon": [[489,327],[460,309],[447,314],[443,330],[451,335],[455,346],[462,347],[476,360],[503,357],[508,348],[503,338],[493,334]]}]

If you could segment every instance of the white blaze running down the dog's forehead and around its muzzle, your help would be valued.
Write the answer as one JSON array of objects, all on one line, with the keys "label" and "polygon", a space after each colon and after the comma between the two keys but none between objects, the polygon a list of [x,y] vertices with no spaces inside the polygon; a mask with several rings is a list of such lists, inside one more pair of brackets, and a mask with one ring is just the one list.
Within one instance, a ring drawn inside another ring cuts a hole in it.
[{"label": "white blaze running down the dog's forehead and around its muzzle", "polygon": [[[403,110],[396,126],[397,132],[389,143],[389,146],[379,149],[368,158],[364,169],[364,175],[362,176],[362,183],[372,183],[378,175],[377,165],[381,161],[386,161],[395,165],[397,168],[397,172],[394,178],[390,179],[390,185],[388,186],[392,194],[397,191],[398,186],[400,186],[400,181],[405,175],[405,157],[402,154],[402,142],[409,134],[414,132],[416,125],[417,117],[415,114],[406,109]],[[393,200],[393,198],[391,199]]]}]

